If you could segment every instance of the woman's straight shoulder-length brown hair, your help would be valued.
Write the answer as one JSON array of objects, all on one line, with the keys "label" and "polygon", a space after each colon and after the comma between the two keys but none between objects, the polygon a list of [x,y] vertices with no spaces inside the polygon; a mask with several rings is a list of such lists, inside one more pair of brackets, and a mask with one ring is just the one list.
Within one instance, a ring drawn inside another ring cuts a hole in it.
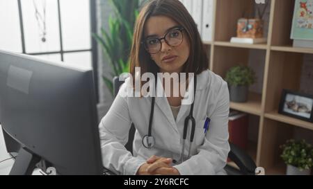
[{"label": "woman's straight shoulder-length brown hair", "polygon": [[145,51],[142,43],[145,37],[145,24],[153,16],[169,17],[184,27],[190,44],[190,53],[184,64],[183,73],[199,74],[209,68],[207,53],[197,25],[184,5],[178,0],[152,0],[143,6],[134,27],[134,42],[129,57],[130,73],[133,78],[135,78],[135,67],[141,68],[141,75],[147,72],[154,74],[159,72],[159,66],[151,60],[150,54]]}]

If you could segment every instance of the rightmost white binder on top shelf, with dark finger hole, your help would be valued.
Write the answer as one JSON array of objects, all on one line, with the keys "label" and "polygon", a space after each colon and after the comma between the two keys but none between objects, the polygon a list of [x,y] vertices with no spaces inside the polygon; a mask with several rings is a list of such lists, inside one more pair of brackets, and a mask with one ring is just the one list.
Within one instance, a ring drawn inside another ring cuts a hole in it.
[{"label": "rightmost white binder on top shelf, with dark finger hole", "polygon": [[202,13],[202,40],[205,42],[212,41],[212,26],[214,20],[214,0],[203,0]]}]

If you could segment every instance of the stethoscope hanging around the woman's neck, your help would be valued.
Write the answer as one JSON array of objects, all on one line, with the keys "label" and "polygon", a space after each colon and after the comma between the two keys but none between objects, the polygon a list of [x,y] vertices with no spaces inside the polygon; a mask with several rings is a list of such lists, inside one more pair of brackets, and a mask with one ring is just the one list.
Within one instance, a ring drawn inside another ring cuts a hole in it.
[{"label": "stethoscope hanging around the woman's neck", "polygon": [[[157,86],[157,80],[156,80],[156,86]],[[189,121],[191,121],[191,136],[190,136],[190,141],[189,141],[190,145],[189,145],[189,150],[188,150],[188,159],[190,158],[191,146],[193,145],[193,138],[195,136],[195,118],[193,117],[193,107],[195,105],[196,89],[197,89],[197,76],[195,75],[193,103],[191,105],[189,115],[185,118],[185,121],[184,121],[183,145],[182,145],[182,154],[180,155],[180,162],[184,162],[185,141],[187,138]],[[143,137],[143,146],[147,149],[151,149],[155,145],[155,138],[154,136],[152,136],[152,119],[153,119],[153,114],[154,114],[154,105],[155,105],[155,97],[152,97],[148,134]]]}]

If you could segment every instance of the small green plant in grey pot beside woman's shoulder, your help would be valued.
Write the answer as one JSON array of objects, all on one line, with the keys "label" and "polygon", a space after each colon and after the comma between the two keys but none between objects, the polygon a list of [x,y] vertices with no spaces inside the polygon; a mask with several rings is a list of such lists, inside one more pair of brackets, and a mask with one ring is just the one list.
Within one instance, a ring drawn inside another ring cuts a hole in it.
[{"label": "small green plant in grey pot beside woman's shoulder", "polygon": [[256,80],[255,72],[249,66],[234,66],[227,71],[225,81],[230,88],[230,101],[247,102],[248,88]]}]

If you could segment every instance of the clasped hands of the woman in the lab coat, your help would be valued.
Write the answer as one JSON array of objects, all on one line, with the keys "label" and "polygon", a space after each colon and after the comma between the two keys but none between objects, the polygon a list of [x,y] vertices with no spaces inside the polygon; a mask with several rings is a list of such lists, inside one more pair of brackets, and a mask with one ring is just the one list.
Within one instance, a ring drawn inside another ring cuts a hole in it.
[{"label": "clasped hands of the woman in the lab coat", "polygon": [[151,156],[146,163],[141,165],[137,175],[180,175],[176,168],[171,166],[172,159]]}]

